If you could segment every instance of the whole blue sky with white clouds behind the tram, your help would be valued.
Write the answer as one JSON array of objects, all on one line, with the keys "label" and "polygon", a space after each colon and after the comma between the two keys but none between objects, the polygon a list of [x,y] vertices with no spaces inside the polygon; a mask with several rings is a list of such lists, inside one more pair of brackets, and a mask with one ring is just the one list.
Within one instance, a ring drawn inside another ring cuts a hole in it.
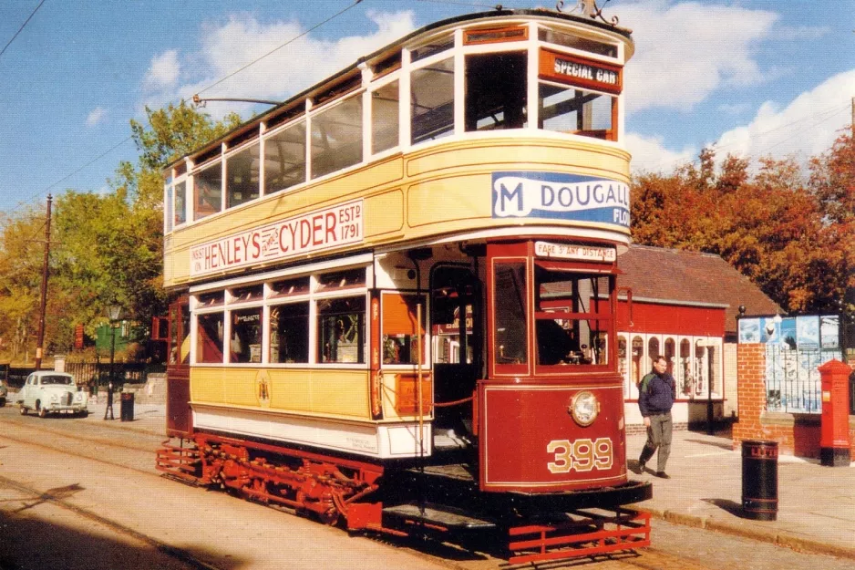
[{"label": "whole blue sky with white clouds behind the tram", "polygon": [[[5,0],[0,2],[0,211],[68,188],[106,192],[135,161],[130,119],[202,97],[285,99],[479,0]],[[511,0],[508,7],[553,7]],[[574,4],[564,2],[564,11]],[[715,144],[757,159],[827,150],[851,121],[855,0],[612,0],[634,31],[627,147],[670,171]],[[250,61],[295,39],[259,63]],[[219,82],[219,83],[218,83]],[[211,87],[212,86],[212,87]],[[211,103],[214,116],[251,109]]]}]

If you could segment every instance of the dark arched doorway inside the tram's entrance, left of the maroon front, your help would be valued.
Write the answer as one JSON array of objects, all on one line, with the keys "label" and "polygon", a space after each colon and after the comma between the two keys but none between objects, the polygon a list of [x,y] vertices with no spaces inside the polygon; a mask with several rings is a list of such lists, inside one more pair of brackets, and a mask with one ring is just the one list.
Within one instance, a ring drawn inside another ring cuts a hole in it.
[{"label": "dark arched doorway inside the tram's entrance, left of the maroon front", "polygon": [[467,265],[430,272],[434,426],[472,433],[471,397],[483,366],[481,285]]}]

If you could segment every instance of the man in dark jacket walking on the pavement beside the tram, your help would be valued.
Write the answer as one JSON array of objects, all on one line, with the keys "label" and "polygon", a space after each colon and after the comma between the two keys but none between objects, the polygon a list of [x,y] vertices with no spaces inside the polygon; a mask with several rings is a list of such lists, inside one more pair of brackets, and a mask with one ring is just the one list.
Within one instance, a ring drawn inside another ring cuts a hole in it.
[{"label": "man in dark jacket walking on the pavement beside the tram", "polygon": [[638,458],[638,468],[639,472],[644,472],[647,461],[658,449],[656,477],[662,479],[671,479],[665,472],[665,463],[671,454],[671,432],[674,429],[671,407],[674,405],[675,390],[674,377],[668,373],[668,361],[663,356],[654,358],[653,372],[642,378],[638,385],[638,408],[641,409],[644,427],[647,428],[647,442]]}]

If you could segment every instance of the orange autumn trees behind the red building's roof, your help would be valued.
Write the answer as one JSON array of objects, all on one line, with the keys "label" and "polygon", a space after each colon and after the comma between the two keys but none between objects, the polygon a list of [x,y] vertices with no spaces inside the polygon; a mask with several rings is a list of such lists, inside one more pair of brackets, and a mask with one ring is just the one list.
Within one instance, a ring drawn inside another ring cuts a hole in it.
[{"label": "orange autumn trees behind the red building's roof", "polygon": [[793,314],[855,310],[855,143],[809,162],[749,161],[714,150],[670,175],[633,181],[633,238],[721,255]]}]

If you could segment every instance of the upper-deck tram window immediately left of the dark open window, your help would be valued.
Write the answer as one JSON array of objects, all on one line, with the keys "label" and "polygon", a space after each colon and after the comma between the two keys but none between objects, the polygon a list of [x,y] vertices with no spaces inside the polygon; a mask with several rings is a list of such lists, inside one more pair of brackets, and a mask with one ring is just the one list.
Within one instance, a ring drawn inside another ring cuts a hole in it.
[{"label": "upper-deck tram window immediately left of the dark open window", "polygon": [[454,134],[454,59],[413,71],[410,117],[412,144]]}]

